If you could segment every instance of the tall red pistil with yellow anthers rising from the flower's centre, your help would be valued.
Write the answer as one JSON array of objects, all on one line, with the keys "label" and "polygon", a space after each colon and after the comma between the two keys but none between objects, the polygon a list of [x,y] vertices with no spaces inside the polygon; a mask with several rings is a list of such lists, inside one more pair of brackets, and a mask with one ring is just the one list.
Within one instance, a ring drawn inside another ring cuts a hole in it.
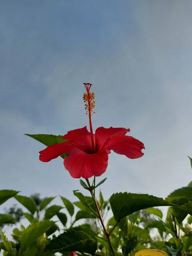
[{"label": "tall red pistil with yellow anthers rising from the flower's centre", "polygon": [[92,115],[93,113],[93,108],[95,108],[95,93],[90,92],[90,87],[92,84],[90,83],[84,83],[84,86],[87,90],[87,93],[83,94],[83,100],[85,103],[85,110],[86,114],[89,116],[89,126],[90,126],[90,136],[91,136],[91,143],[92,143],[92,150],[93,153],[95,152],[95,141],[94,141],[94,136],[93,136],[93,126],[92,126]]}]

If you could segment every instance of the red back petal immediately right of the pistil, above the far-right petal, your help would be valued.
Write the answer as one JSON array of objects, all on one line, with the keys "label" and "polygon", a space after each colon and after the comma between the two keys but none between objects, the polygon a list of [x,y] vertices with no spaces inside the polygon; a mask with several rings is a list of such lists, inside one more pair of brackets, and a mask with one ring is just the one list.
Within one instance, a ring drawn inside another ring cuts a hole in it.
[{"label": "red back petal immediately right of the pistil, above the far-right petal", "polygon": [[103,145],[107,143],[107,141],[110,139],[111,136],[115,134],[121,134],[125,135],[127,132],[129,132],[130,129],[126,128],[104,128],[99,127],[95,131],[95,140],[96,140],[96,146],[98,151],[103,148]]}]

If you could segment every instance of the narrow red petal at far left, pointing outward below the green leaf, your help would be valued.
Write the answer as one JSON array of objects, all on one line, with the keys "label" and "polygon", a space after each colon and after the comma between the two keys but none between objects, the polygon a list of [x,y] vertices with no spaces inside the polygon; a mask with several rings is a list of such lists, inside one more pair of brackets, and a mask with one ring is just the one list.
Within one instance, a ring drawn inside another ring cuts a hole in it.
[{"label": "narrow red petal at far left, pointing outward below the green leaf", "polygon": [[39,152],[39,160],[41,160],[42,162],[49,162],[62,154],[69,153],[73,148],[74,145],[71,145],[69,142],[50,145]]}]

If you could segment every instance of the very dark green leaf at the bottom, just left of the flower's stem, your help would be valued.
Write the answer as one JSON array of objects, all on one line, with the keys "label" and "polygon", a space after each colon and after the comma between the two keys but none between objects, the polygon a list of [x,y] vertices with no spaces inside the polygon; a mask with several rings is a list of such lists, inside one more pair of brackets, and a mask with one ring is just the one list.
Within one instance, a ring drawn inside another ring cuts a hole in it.
[{"label": "very dark green leaf at the bottom, just left of the flower's stem", "polygon": [[45,250],[51,250],[55,252],[71,252],[77,251],[79,253],[96,252],[97,245],[93,239],[90,239],[83,231],[67,230],[58,237],[52,239],[46,246]]}]

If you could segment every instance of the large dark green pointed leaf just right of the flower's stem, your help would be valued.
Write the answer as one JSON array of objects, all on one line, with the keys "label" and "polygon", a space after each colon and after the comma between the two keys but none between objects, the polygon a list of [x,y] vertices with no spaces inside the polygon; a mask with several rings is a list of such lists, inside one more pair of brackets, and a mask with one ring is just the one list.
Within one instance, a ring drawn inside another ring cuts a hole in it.
[{"label": "large dark green pointed leaf just right of the flower's stem", "polygon": [[148,194],[116,193],[110,198],[110,205],[115,219],[118,221],[141,209],[172,206],[170,202]]}]

